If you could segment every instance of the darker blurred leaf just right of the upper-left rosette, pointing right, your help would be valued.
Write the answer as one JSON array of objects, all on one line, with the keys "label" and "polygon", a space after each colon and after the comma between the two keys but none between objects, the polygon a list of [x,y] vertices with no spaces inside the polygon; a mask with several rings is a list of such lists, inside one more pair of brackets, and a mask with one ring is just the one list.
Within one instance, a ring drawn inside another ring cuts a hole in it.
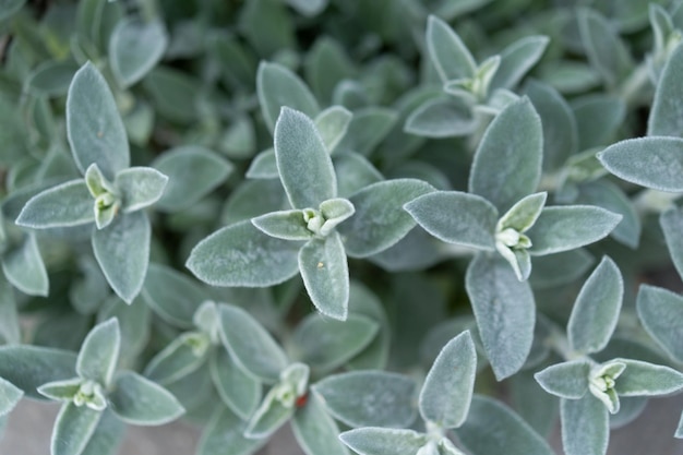
[{"label": "darker blurred leaf just right of the upper-left rosette, pointing right", "polygon": [[166,189],[155,205],[167,212],[190,208],[220,185],[233,169],[229,161],[197,145],[166,151],[151,166],[168,176]]}]

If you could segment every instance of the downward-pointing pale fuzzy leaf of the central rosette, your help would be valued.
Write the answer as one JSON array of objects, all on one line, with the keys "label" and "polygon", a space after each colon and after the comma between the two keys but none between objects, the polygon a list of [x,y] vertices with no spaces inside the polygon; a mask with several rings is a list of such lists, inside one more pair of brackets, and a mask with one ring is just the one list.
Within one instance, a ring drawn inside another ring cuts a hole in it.
[{"label": "downward-pointing pale fuzzy leaf of the central rosette", "polygon": [[349,271],[342,236],[333,231],[299,251],[299,271],[311,301],[321,313],[345,321],[348,315]]}]

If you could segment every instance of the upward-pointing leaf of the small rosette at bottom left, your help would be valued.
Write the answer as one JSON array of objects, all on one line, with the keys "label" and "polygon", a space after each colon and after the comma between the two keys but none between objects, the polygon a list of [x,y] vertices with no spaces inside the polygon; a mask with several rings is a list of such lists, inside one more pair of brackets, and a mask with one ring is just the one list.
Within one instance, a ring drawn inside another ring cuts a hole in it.
[{"label": "upward-pointing leaf of the small rosette at bottom left", "polygon": [[79,351],[76,362],[79,376],[108,387],[119,361],[120,348],[119,321],[112,318],[97,324],[87,334]]}]

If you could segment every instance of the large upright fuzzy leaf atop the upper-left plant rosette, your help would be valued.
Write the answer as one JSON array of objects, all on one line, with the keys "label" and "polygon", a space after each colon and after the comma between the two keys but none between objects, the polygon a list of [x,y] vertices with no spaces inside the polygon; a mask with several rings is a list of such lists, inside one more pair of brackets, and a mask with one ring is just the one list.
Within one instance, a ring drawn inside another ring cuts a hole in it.
[{"label": "large upright fuzzy leaf atop the upper-left plant rosette", "polygon": [[81,172],[94,163],[111,181],[130,166],[123,121],[107,81],[93,63],[85,63],[69,87],[67,133]]}]

